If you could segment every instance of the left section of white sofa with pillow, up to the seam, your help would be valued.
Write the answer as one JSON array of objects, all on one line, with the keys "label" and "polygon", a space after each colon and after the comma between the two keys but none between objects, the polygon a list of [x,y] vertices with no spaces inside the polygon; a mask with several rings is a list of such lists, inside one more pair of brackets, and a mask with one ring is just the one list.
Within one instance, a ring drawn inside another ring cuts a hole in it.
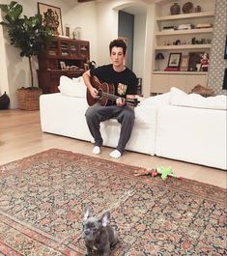
[{"label": "left section of white sofa with pillow, up to the seam", "polygon": [[[44,132],[93,141],[87,128],[85,112],[88,107],[86,87],[82,77],[60,78],[61,93],[42,95],[40,100],[41,125]],[[148,155],[155,155],[156,107],[137,106],[135,124],[127,149]],[[100,125],[103,145],[116,147],[120,125],[116,120],[108,120]],[[108,134],[111,134],[110,136]]]}]

